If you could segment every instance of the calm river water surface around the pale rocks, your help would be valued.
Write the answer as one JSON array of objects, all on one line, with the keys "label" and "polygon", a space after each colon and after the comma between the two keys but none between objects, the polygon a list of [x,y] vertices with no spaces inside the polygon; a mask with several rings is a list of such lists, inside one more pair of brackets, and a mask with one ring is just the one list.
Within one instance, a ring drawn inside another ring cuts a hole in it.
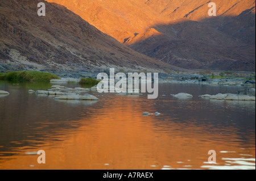
[{"label": "calm river water surface around the pale rocks", "polygon": [[[90,91],[100,100],[60,101],[28,93],[50,87],[0,82],[10,92],[0,96],[0,169],[255,169],[255,102],[198,97],[241,87],[160,83],[154,100]],[[193,98],[170,95],[179,92]],[[46,164],[27,154],[38,150],[46,151]],[[217,164],[208,163],[209,150]]]}]

